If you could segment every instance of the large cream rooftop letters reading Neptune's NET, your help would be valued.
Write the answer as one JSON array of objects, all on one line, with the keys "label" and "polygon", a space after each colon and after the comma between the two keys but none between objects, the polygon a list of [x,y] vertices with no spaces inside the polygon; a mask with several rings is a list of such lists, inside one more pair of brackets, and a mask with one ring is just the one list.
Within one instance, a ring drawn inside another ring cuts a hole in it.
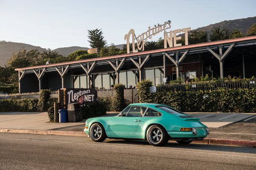
[{"label": "large cream rooftop letters reading Neptune's NET", "polygon": [[[144,46],[147,42],[147,40],[152,38],[152,35],[159,34],[160,32],[164,32],[163,41],[164,41],[164,48],[167,48],[167,44],[169,47],[178,47],[181,46],[181,43],[177,43],[177,40],[181,40],[181,37],[177,37],[178,33],[184,33],[185,34],[185,45],[189,44],[188,41],[188,32],[191,30],[191,28],[182,28],[182,29],[176,29],[174,31],[166,32],[166,29],[171,28],[171,21],[165,22],[163,25],[158,24],[157,26],[154,25],[153,28],[150,26],[148,27],[148,31],[143,32],[139,36],[135,36],[134,29],[131,29],[128,34],[125,34],[125,40],[126,40],[126,46],[127,46],[127,54],[130,53],[130,37],[132,39],[132,52],[136,53],[138,50],[144,51]],[[135,42],[136,41],[136,42]],[[137,45],[135,46],[135,43]]]}]

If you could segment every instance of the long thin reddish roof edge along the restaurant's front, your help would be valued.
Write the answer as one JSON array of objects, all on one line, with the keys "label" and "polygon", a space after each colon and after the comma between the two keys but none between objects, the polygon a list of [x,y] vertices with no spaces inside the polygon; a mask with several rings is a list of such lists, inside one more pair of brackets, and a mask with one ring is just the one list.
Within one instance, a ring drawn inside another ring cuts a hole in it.
[{"label": "long thin reddish roof edge along the restaurant's front", "polygon": [[213,41],[213,42],[204,42],[204,43],[192,44],[192,45],[182,45],[179,47],[162,48],[162,49],[157,49],[157,50],[143,51],[143,52],[137,52],[137,53],[131,53],[131,54],[121,54],[121,55],[99,57],[99,58],[92,58],[92,59],[81,59],[81,60],[76,60],[76,61],[60,62],[60,63],[54,63],[54,64],[49,64],[49,65],[37,65],[37,66],[24,67],[24,68],[15,68],[15,71],[35,69],[35,68],[54,67],[54,66],[60,66],[60,65],[75,64],[75,63],[80,63],[80,62],[93,62],[93,61],[100,61],[100,60],[105,60],[105,59],[117,59],[117,58],[122,58],[122,57],[141,56],[141,55],[160,53],[160,52],[166,52],[166,51],[175,51],[175,50],[182,50],[182,49],[187,49],[187,48],[204,47],[204,46],[209,46],[209,45],[220,45],[220,44],[240,42],[240,41],[246,41],[246,40],[256,40],[256,36],[242,37],[242,38],[229,39],[229,40],[220,40],[220,41]]}]

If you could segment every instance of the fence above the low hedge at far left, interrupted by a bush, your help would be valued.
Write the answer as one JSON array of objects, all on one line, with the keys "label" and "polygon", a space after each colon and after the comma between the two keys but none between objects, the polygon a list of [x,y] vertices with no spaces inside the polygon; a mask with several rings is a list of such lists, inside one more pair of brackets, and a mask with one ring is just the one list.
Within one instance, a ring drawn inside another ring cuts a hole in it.
[{"label": "fence above the low hedge at far left, interrupted by a bush", "polygon": [[[39,99],[39,98],[40,98],[40,92],[0,95],[0,100],[3,100],[3,99]],[[58,91],[52,91],[50,94],[50,98],[58,99]]]}]

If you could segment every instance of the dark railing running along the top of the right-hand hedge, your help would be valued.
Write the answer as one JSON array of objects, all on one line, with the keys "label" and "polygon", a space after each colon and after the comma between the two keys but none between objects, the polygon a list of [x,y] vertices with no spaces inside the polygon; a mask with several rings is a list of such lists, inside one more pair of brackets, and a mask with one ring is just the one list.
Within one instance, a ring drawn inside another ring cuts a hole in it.
[{"label": "dark railing running along the top of the right-hand hedge", "polygon": [[157,91],[208,91],[218,88],[255,88],[255,80],[250,81],[227,81],[227,82],[209,82],[209,83],[189,83],[183,85],[161,85],[157,86]]}]

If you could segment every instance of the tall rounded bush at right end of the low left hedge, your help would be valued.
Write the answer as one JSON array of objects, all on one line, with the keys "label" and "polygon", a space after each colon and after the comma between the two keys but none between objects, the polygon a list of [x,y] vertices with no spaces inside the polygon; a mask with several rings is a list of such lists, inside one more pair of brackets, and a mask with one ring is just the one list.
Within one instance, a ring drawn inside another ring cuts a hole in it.
[{"label": "tall rounded bush at right end of the low left hedge", "polygon": [[48,111],[50,94],[51,94],[50,90],[40,91],[40,99],[37,105],[38,111]]}]

